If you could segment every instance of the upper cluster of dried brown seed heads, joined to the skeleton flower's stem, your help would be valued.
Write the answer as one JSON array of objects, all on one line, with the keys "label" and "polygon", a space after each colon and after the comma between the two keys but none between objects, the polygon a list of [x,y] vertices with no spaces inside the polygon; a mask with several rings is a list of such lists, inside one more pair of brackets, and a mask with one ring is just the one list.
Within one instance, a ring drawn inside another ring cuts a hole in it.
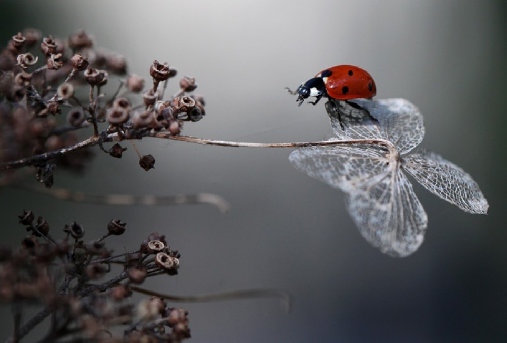
[{"label": "upper cluster of dried brown seed heads, joined to the skeleton flower's stem", "polygon": [[[53,183],[55,163],[81,168],[87,156],[83,148],[99,145],[102,151],[121,158],[126,148],[103,143],[141,139],[154,132],[178,135],[184,121],[198,121],[205,114],[204,100],[191,94],[194,78],[179,80],[179,90],[164,98],[167,82],[176,69],[154,61],[149,68],[153,87],[143,92],[144,80],[127,73],[125,57],[96,49],[85,31],[56,39],[33,29],[12,37],[0,52],[0,163],[23,159],[37,167],[38,180]],[[103,93],[111,74],[125,76],[114,94]],[[138,95],[139,94],[139,95]],[[137,99],[139,104],[133,104]],[[62,119],[60,119],[62,117]],[[63,120],[65,118],[65,120]],[[100,128],[101,123],[108,126]],[[87,144],[76,131],[92,127]],[[154,167],[152,155],[139,164]],[[3,175],[8,183],[9,175]]]}]

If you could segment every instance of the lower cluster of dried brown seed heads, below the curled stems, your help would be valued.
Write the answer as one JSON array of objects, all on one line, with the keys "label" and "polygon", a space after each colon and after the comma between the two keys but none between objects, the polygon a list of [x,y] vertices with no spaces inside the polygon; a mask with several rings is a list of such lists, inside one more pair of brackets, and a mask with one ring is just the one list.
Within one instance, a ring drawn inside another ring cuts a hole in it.
[{"label": "lower cluster of dried brown seed heads, below the curled stems", "polygon": [[[112,220],[106,233],[85,242],[85,229],[74,222],[65,225],[63,238],[50,235],[50,225],[23,211],[19,222],[29,232],[18,249],[0,249],[0,298],[21,313],[24,306],[39,304],[43,309],[16,328],[12,340],[19,340],[46,316],[53,314],[53,341],[72,335],[93,341],[169,341],[190,337],[187,312],[168,307],[157,296],[129,302],[130,285],[147,277],[177,273],[180,254],[171,250],[165,237],[152,233],[132,252],[114,255],[105,245],[108,236],[121,235],[126,224]],[[114,277],[108,276],[121,268]],[[124,334],[110,331],[123,326]]]}]

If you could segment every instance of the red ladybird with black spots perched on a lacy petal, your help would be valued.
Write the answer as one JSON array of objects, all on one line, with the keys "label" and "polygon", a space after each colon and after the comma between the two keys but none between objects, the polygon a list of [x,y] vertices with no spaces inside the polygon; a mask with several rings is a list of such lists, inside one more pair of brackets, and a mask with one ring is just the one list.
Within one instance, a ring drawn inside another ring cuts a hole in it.
[{"label": "red ladybird with black spots perched on a lacy petal", "polygon": [[353,65],[337,65],[320,71],[314,78],[302,83],[293,92],[298,94],[299,106],[308,97],[315,97],[315,105],[323,96],[337,100],[373,98],[377,88],[372,75],[365,69]]}]

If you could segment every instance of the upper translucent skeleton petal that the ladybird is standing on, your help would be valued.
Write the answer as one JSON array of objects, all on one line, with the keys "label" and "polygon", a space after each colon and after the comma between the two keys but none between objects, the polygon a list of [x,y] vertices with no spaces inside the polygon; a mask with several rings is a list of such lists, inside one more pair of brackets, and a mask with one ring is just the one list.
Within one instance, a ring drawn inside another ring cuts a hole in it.
[{"label": "upper translucent skeleton petal that the ladybird is standing on", "polygon": [[405,154],[424,137],[422,114],[406,99],[330,100],[325,107],[337,139],[385,139]]}]

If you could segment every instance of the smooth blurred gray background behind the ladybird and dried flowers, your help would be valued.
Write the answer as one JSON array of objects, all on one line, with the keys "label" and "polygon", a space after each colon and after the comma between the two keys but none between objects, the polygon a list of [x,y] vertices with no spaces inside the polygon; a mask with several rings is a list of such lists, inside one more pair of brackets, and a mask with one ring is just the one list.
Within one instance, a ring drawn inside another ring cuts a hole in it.
[{"label": "smooth blurred gray background behind the ladybird and dried flowers", "polygon": [[[18,244],[25,235],[17,224],[23,208],[44,216],[53,236],[78,221],[88,240],[119,218],[128,230],[113,244],[117,251],[159,231],[182,253],[179,274],[152,278],[147,288],[175,295],[281,288],[294,298],[288,314],[273,299],[175,304],[190,311],[196,342],[500,340],[507,320],[504,2],[1,5],[2,46],[27,26],[62,38],[85,29],[97,46],[126,56],[129,72],[147,85],[155,59],[176,67],[178,76],[196,77],[207,114],[183,133],[202,138],[320,140],[329,130],[323,103],[298,107],[283,88],[329,66],[363,67],[376,80],[377,98],[407,98],[421,109],[421,147],[466,170],[490,203],[488,216],[469,215],[414,184],[429,218],[425,241],[408,258],[392,259],[360,236],[342,193],[291,166],[289,149],[153,139],[137,143],[156,157],[148,173],[128,145],[121,160],[95,149],[85,174],[58,171],[56,186],[94,194],[216,193],[231,212],[66,203],[6,188],[0,190],[4,243]],[[174,79],[168,94],[176,89]],[[12,318],[8,306],[0,311],[5,338]]]}]

